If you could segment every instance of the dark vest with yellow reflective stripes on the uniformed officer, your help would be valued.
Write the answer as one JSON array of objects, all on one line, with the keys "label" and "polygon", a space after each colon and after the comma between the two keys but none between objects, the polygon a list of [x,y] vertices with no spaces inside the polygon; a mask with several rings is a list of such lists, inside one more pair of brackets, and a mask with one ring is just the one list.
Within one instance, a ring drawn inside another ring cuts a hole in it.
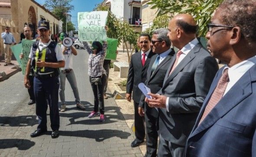
[{"label": "dark vest with yellow reflective stripes on the uniformed officer", "polygon": [[52,68],[52,67],[36,67],[36,61],[41,60],[45,62],[51,62],[56,63],[56,52],[55,48],[57,43],[51,42],[46,48],[44,48],[42,51],[38,48],[39,41],[36,41],[32,45],[32,54],[33,58],[31,58],[31,66],[33,67],[34,73],[50,73],[50,72],[56,72],[59,74],[59,68]]}]

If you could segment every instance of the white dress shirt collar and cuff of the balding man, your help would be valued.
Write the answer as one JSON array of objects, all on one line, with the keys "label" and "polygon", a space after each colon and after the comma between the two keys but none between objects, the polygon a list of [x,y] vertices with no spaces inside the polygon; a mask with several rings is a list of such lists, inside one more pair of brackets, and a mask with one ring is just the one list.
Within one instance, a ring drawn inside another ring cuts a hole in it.
[{"label": "white dress shirt collar and cuff of the balding man", "polygon": [[[197,38],[194,38],[191,42],[189,42],[187,45],[185,45],[183,48],[181,48],[182,54],[180,55],[179,60],[177,61],[177,65],[178,66],[179,63],[181,63],[181,61],[186,57],[186,55],[195,47],[195,45],[197,45],[199,42],[197,40]],[[166,110],[167,112],[169,112],[169,97],[167,97],[166,99]]]}]

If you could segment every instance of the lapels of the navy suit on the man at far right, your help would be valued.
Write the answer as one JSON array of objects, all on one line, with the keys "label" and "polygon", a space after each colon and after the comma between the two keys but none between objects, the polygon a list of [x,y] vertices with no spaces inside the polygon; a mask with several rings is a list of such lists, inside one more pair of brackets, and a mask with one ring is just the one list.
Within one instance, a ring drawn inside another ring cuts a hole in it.
[{"label": "lapels of the navy suit on the man at far right", "polygon": [[[191,137],[194,135],[197,135],[201,131],[212,126],[221,117],[223,117],[227,112],[229,112],[231,109],[233,109],[237,104],[239,104],[241,101],[243,101],[243,99],[245,99],[252,93],[251,82],[256,80],[256,74],[254,74],[255,70],[256,70],[256,65],[254,65],[252,68],[250,68],[235,83],[235,85],[223,96],[223,98],[220,99],[220,102],[217,103],[217,105],[207,115],[207,117],[203,120],[203,122],[201,122],[201,124],[198,125],[197,128],[195,128],[195,130],[191,133]],[[219,79],[217,79],[217,81],[218,80]],[[213,90],[211,92],[213,92]],[[209,101],[209,98],[210,98],[210,96],[207,98],[207,101]],[[232,101],[230,101],[230,98],[232,98]],[[205,106],[204,106],[204,108],[205,108]],[[197,121],[201,118],[201,115],[203,112],[204,112],[204,109],[202,109],[200,111],[200,117],[198,117]]]}]

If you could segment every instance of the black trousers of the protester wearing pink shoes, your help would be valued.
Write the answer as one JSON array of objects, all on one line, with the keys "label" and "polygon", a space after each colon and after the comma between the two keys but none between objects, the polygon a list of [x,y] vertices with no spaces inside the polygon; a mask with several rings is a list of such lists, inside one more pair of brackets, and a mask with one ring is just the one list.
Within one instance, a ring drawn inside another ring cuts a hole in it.
[{"label": "black trousers of the protester wearing pink shoes", "polygon": [[91,84],[92,86],[92,91],[94,95],[94,112],[98,112],[98,107],[99,107],[99,112],[100,114],[104,115],[105,112],[105,107],[104,107],[104,87],[106,83],[106,75],[103,74],[101,77],[102,84]]}]

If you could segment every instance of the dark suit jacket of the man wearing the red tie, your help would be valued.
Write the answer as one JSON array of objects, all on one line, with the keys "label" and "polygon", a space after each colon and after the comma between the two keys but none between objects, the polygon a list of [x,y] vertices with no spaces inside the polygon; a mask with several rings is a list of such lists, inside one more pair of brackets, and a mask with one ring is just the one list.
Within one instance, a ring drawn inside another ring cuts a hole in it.
[{"label": "dark suit jacket of the man wearing the red tie", "polygon": [[150,63],[151,57],[154,55],[152,50],[149,52],[148,57],[144,66],[141,63],[141,52],[132,54],[130,67],[127,77],[126,93],[132,93],[132,99],[139,103],[141,99],[141,90],[138,88],[138,84],[145,82],[147,77],[148,65]]}]

